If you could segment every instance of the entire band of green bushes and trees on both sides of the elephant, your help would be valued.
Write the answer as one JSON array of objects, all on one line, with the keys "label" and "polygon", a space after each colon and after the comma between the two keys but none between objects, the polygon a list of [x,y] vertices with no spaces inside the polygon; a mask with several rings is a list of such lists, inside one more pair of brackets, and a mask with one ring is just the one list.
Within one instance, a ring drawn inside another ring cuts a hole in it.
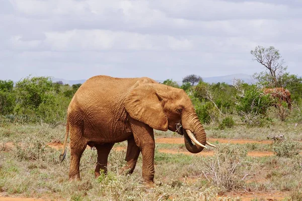
[{"label": "entire band of green bushes and trees on both sides of the elephant", "polygon": [[[274,119],[302,122],[302,78],[289,74],[278,50],[258,46],[251,51],[266,70],[255,73],[255,84],[234,80],[234,84],[205,83],[198,75],[183,78],[182,85],[167,79],[163,84],[184,89],[203,124],[231,128],[235,124],[267,126]],[[0,125],[9,123],[64,123],[67,107],[81,84],[52,82],[50,77],[26,77],[14,84],[0,80]],[[287,103],[264,93],[264,88],[283,87],[290,91]],[[274,107],[277,106],[277,107]]]}]

